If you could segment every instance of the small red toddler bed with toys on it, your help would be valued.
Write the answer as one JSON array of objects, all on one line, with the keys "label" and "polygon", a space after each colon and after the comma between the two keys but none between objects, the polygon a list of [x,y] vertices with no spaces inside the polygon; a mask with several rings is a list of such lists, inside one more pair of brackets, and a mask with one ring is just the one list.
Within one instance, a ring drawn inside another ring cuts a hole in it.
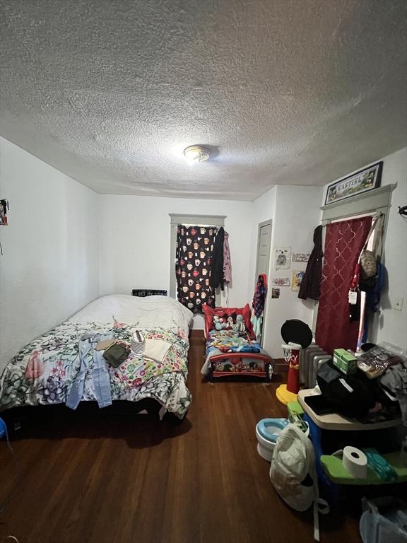
[{"label": "small red toddler bed with toys on it", "polygon": [[271,380],[273,359],[256,341],[249,304],[244,308],[203,308],[206,360],[201,373],[211,380],[237,376]]}]

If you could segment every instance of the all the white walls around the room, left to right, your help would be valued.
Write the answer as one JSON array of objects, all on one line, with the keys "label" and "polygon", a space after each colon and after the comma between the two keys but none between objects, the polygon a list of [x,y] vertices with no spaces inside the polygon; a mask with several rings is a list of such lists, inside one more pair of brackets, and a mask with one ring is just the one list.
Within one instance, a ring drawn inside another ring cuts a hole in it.
[{"label": "all the white walls around the room, left to right", "polygon": [[[258,224],[271,218],[271,248],[312,250],[322,187],[273,187],[254,202],[95,194],[41,160],[1,139],[0,197],[10,202],[9,226],[0,227],[0,369],[25,343],[57,325],[100,294],[132,288],[169,288],[169,213],[227,215],[232,288],[229,305],[251,303]],[[407,348],[407,224],[397,206],[407,204],[407,149],[384,159],[382,184],[397,183],[384,249],[389,287],[375,322],[373,341]],[[272,253],[271,253],[272,254]],[[283,322],[312,325],[314,302],[290,287],[271,298],[271,278],[290,276],[271,262],[264,346],[280,358]],[[403,298],[403,310],[394,309]],[[225,296],[218,304],[225,305]],[[196,317],[194,327],[202,327]]]}]

